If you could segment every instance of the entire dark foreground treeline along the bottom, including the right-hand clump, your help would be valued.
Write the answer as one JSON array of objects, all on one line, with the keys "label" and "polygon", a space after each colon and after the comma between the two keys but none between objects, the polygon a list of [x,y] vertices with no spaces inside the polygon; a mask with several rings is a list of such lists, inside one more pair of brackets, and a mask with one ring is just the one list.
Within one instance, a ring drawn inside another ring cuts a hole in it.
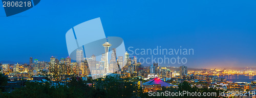
[{"label": "entire dark foreground treeline along the bottom, including the right-hand clump", "polygon": [[[4,91],[7,83],[7,78],[0,74],[0,97],[221,97],[219,92],[222,90],[197,88],[191,86],[188,82],[180,83],[178,88],[162,87],[162,90],[157,92],[216,92],[214,96],[150,96],[149,93],[143,93],[142,87],[137,85],[137,82],[131,82],[130,79],[122,79],[120,77],[99,78],[95,80],[89,79],[83,81],[81,78],[73,77],[70,82],[26,82],[26,86],[17,88],[11,92]],[[2,90],[1,90],[2,89]]]}]

